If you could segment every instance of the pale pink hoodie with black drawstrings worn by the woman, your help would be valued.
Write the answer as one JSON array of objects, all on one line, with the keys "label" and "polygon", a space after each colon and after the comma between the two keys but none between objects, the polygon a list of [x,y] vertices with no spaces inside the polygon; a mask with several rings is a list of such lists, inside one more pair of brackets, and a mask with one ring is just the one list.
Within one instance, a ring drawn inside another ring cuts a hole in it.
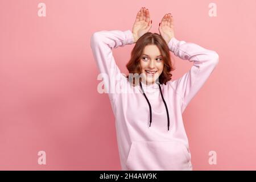
[{"label": "pale pink hoodie with black drawstrings worn by the woman", "polygon": [[131,85],[121,74],[112,53],[113,48],[133,43],[130,30],[98,31],[90,39],[115,116],[122,170],[192,170],[182,113],[218,64],[218,54],[172,38],[168,43],[170,51],[180,59],[193,61],[193,66],[166,85],[142,82],[145,97],[140,85]]}]

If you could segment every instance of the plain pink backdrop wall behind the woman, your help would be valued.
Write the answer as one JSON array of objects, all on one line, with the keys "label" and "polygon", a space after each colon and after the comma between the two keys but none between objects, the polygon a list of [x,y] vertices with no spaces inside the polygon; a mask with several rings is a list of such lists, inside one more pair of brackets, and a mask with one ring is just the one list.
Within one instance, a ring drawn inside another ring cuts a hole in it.
[{"label": "plain pink backdrop wall behind the woman", "polygon": [[[46,3],[46,17],[38,4]],[[217,17],[208,15],[216,3]],[[0,1],[0,169],[119,170],[114,115],[97,92],[90,36],[132,30],[141,7],[158,32],[172,13],[175,37],[220,61],[183,114],[195,170],[256,169],[256,1]],[[114,49],[121,72],[134,45]],[[192,63],[174,57],[174,80]],[[39,165],[38,151],[46,151]],[[217,164],[208,163],[209,151]]]}]

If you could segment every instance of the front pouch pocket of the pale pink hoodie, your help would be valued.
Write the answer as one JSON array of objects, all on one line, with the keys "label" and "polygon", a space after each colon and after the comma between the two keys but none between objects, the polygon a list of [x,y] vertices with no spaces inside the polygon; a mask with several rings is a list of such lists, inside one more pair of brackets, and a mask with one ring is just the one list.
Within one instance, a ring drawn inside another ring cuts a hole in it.
[{"label": "front pouch pocket of the pale pink hoodie", "polygon": [[191,155],[177,140],[132,142],[126,160],[129,170],[191,170]]}]

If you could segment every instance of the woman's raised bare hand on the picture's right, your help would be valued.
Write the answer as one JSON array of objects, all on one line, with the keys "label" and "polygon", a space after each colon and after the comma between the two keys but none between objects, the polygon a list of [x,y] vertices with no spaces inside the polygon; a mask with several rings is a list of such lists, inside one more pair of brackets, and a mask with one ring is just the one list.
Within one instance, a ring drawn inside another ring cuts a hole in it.
[{"label": "woman's raised bare hand on the picture's right", "polygon": [[162,22],[158,28],[160,35],[168,44],[174,37],[174,18],[170,13],[166,14],[162,18]]}]

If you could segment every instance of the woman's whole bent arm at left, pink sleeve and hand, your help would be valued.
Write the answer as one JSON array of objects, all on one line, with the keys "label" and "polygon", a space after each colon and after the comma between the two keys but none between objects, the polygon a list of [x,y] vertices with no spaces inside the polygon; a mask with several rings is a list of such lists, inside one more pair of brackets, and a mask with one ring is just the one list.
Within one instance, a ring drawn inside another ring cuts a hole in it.
[{"label": "woman's whole bent arm at left, pink sleeve and hand", "polygon": [[[133,24],[133,31],[98,31],[95,32],[90,39],[90,47],[92,48],[94,59],[102,76],[108,77],[104,79],[104,87],[109,93],[110,100],[115,99],[115,86],[117,85],[117,77],[126,78],[121,75],[117,64],[113,57],[112,49],[126,44],[133,44],[152,27],[150,13],[148,9],[141,8],[137,13]],[[105,74],[104,74],[105,73]],[[103,75],[104,74],[104,75]]]}]

